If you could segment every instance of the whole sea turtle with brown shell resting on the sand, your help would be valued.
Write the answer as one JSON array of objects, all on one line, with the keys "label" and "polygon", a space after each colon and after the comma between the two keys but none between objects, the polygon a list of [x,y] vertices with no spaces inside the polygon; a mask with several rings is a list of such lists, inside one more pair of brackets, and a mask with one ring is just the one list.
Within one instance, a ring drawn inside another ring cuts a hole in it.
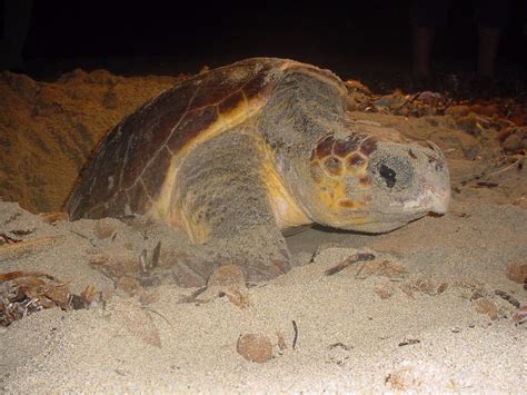
[{"label": "whole sea turtle with brown shell resting on the sand", "polygon": [[108,134],[67,210],[72,219],[140,214],[167,221],[223,257],[192,271],[207,278],[230,261],[248,280],[290,268],[285,228],[384,233],[446,213],[440,149],[354,121],[346,96],[329,70],[286,59],[200,73]]}]

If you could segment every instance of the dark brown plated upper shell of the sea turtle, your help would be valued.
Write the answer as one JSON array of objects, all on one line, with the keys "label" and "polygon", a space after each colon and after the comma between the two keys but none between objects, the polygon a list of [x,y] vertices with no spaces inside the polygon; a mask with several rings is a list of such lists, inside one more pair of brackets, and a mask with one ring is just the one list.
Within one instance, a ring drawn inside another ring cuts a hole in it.
[{"label": "dark brown plated upper shell of the sea turtle", "polygon": [[143,105],[108,134],[83,170],[66,207],[71,218],[143,214],[175,155],[219,117],[229,121],[237,107],[264,107],[280,70],[291,67],[330,75],[290,60],[255,58],[196,76]]}]

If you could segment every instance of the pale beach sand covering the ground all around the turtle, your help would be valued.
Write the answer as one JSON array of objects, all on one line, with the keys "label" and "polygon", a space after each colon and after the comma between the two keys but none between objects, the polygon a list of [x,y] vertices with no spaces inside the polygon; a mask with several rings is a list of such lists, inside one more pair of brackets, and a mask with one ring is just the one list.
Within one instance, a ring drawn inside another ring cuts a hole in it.
[{"label": "pale beach sand covering the ground all around the turtle", "polygon": [[[0,244],[0,274],[42,271],[77,295],[93,286],[96,296],[89,308],[42,309],[0,327],[1,392],[525,393],[527,162],[504,150],[499,122],[475,132],[453,112],[352,112],[445,150],[450,211],[385,235],[302,229],[287,238],[295,260],[288,274],[201,292],[170,276],[170,256],[191,247],[162,224],[37,215],[60,210],[105,130],[175,81],[71,76],[44,83],[3,75],[0,88],[10,96],[1,103],[0,235],[21,241]],[[68,97],[84,92],[74,106],[57,93],[68,83]],[[97,93],[108,85],[120,87],[113,109]],[[46,91],[68,116],[47,106],[50,112],[31,115],[33,95]],[[82,131],[64,121],[81,117]],[[73,152],[82,134],[84,148]],[[24,160],[22,147],[41,166]],[[158,241],[159,269],[146,282],[140,256],[151,257]],[[327,275],[356,254],[374,258]],[[247,334],[268,342],[258,354],[266,362],[238,352]]]}]

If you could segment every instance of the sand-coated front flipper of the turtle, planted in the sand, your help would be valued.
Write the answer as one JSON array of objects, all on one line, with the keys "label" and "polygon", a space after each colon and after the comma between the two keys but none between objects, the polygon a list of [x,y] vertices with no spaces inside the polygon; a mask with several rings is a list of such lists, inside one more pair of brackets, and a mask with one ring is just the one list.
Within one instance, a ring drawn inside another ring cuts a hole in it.
[{"label": "sand-coated front flipper of the turtle, planted in the sand", "polygon": [[290,268],[262,180],[259,144],[243,130],[200,144],[179,166],[170,203],[170,220],[215,255],[213,266],[235,264],[250,282]]}]

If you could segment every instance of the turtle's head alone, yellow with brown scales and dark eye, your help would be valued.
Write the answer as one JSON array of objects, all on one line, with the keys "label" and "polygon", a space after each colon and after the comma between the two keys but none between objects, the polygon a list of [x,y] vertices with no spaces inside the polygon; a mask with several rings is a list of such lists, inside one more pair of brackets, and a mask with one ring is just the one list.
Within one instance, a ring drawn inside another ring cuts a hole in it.
[{"label": "turtle's head alone, yellow with brown scales and dark eye", "polygon": [[336,228],[389,231],[430,211],[446,213],[450,200],[441,150],[391,129],[325,137],[308,167],[310,182],[298,190],[304,209],[314,221]]}]

